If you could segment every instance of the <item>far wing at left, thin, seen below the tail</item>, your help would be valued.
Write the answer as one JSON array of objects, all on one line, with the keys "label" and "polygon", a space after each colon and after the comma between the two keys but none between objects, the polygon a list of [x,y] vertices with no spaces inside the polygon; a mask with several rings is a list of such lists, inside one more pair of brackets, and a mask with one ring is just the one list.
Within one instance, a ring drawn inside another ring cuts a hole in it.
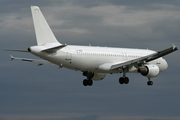
[{"label": "far wing at left, thin, seen below the tail", "polygon": [[40,65],[44,65],[44,64],[47,64],[47,65],[55,65],[53,63],[50,63],[46,60],[36,60],[36,59],[28,59],[28,58],[18,58],[18,57],[13,57],[12,55],[11,56],[11,61],[16,59],[16,60],[22,60],[22,61],[27,61],[27,62],[32,62],[32,63],[37,63],[38,66]]}]

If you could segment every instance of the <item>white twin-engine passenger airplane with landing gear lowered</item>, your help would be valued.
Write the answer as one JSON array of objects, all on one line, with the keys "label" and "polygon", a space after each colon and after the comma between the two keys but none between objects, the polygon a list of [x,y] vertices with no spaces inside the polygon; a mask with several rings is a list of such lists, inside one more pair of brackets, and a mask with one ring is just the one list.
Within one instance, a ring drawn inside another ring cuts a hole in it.
[{"label": "white twin-engine passenger airplane with landing gear lowered", "polygon": [[83,76],[87,77],[83,80],[84,86],[92,86],[93,81],[103,80],[106,74],[114,73],[123,74],[119,78],[120,84],[129,83],[127,73],[140,73],[148,78],[147,85],[152,86],[151,78],[157,77],[168,67],[166,60],[162,57],[178,50],[174,44],[168,49],[157,52],[148,49],[61,44],[54,36],[40,8],[31,6],[31,12],[37,45],[29,47],[27,51],[8,51],[30,52],[43,60],[19,58],[12,55],[11,60],[28,61],[37,63],[39,66],[57,65],[59,68],[81,71]]}]

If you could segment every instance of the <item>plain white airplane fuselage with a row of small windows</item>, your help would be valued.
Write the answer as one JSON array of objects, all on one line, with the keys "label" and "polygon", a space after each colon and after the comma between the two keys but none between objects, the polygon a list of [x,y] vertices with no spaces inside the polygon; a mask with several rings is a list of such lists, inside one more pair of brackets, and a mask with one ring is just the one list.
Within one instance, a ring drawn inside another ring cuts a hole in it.
[{"label": "plain white airplane fuselage with a row of small windows", "polygon": [[[68,45],[55,53],[41,52],[44,46],[31,47],[31,53],[54,63],[60,67],[76,71],[91,71],[95,73],[120,73],[121,69],[110,70],[104,66],[123,63],[139,57],[147,56],[155,51],[146,49],[110,48]],[[104,65],[105,64],[105,65]],[[160,72],[167,69],[167,62],[159,58],[146,64],[154,64]],[[137,72],[135,66],[130,66],[128,72]]]}]

